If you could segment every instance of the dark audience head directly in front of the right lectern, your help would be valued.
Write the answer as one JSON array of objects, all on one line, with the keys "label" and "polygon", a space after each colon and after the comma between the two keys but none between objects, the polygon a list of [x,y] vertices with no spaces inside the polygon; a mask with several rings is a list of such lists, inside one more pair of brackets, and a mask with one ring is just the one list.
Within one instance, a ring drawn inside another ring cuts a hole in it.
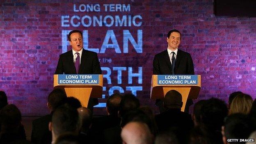
[{"label": "dark audience head directly in front of the right lectern", "polygon": [[178,91],[170,90],[165,94],[164,106],[166,109],[181,109],[182,105],[182,96]]}]

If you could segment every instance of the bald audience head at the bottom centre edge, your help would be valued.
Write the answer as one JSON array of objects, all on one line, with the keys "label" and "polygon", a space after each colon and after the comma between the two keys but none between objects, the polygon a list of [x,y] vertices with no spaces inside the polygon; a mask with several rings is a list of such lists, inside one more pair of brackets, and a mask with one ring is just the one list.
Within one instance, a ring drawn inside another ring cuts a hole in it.
[{"label": "bald audience head at the bottom centre edge", "polygon": [[153,144],[149,127],[142,122],[130,122],[123,127],[121,138],[125,144]]}]

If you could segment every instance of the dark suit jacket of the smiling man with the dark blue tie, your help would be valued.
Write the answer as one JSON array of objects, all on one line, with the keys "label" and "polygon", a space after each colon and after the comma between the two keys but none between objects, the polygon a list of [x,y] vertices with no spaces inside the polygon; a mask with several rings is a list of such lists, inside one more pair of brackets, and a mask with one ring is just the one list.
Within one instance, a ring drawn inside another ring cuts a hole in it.
[{"label": "dark suit jacket of the smiling man with the dark blue tie", "polygon": [[[171,61],[167,50],[155,55],[153,60],[154,75],[170,75],[172,73]],[[176,64],[174,67],[176,75],[194,75],[194,64],[189,53],[179,50],[176,55]]]}]

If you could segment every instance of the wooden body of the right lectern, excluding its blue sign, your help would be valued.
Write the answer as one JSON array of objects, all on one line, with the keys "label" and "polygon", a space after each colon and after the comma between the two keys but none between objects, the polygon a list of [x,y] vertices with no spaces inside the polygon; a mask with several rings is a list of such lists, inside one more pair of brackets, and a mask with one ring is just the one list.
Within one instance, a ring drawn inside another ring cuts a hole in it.
[{"label": "wooden body of the right lectern, excluding its blue sign", "polygon": [[200,89],[201,75],[197,75],[196,85],[159,85],[158,75],[152,75],[150,96],[151,99],[163,99],[168,91],[176,90],[182,95],[183,105],[181,111],[184,112],[187,99],[197,99]]}]

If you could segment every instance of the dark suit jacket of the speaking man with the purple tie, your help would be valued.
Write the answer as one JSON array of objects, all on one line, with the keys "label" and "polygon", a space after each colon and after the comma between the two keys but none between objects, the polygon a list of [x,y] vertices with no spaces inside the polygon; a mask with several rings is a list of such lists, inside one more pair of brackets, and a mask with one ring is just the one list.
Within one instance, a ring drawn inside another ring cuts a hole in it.
[{"label": "dark suit jacket of the speaking man with the purple tie", "polygon": [[[59,55],[59,62],[55,74],[63,73],[77,74],[75,70],[72,50],[69,50],[68,52]],[[78,74],[102,74],[97,53],[85,49],[82,50],[82,57]],[[89,99],[88,107],[90,107],[91,110],[93,105],[98,105],[97,98]]]}]

